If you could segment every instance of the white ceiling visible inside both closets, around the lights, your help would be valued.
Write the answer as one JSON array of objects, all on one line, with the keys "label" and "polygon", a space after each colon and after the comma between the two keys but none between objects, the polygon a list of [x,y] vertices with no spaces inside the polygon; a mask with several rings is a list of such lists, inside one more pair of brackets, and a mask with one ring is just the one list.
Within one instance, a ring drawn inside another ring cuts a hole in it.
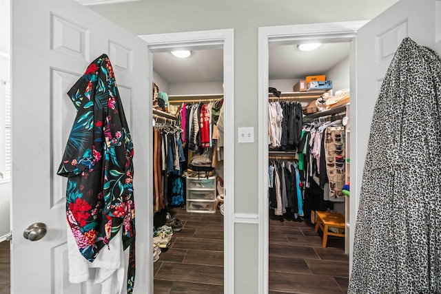
[{"label": "white ceiling visible inside both closets, around the lights", "polygon": [[[309,52],[297,45],[269,46],[269,79],[300,79],[322,74],[349,56],[349,43],[325,43]],[[153,70],[168,83],[223,81],[223,50],[194,50],[187,59],[170,52],[153,54]]]}]

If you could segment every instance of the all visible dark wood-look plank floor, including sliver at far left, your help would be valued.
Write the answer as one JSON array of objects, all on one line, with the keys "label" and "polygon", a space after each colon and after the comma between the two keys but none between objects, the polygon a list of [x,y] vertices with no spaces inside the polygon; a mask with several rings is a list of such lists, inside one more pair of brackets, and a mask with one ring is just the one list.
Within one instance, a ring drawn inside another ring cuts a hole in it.
[{"label": "all visible dark wood-look plank floor, including sliver at far left", "polygon": [[[170,249],[154,263],[154,293],[223,294],[223,216],[173,209],[183,220]],[[343,238],[308,222],[269,220],[269,294],[347,293],[349,260]],[[0,294],[10,294],[9,242],[0,243]]]}]

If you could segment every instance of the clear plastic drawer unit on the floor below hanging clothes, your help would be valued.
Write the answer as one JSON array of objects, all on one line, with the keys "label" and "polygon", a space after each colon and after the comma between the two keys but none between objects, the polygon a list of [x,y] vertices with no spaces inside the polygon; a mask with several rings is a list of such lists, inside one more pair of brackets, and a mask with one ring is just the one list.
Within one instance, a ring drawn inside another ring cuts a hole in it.
[{"label": "clear plastic drawer unit on the floor below hanging clothes", "polygon": [[187,204],[189,212],[216,212],[216,176],[187,178]]}]

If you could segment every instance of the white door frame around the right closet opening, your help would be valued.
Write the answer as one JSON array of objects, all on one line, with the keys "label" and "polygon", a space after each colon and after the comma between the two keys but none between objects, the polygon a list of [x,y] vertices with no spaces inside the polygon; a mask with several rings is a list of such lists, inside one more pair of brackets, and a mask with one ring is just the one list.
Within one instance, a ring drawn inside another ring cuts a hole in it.
[{"label": "white door frame around the right closet opening", "polygon": [[[283,45],[298,41],[348,42],[351,92],[351,129],[356,129],[356,33],[367,21],[280,25],[258,28],[258,275],[259,293],[268,293],[269,277],[269,199],[268,194],[268,87],[269,45]],[[357,132],[351,134],[351,157],[356,158]],[[351,160],[351,186],[356,180],[356,161]],[[351,187],[358,191],[357,187]],[[356,197],[351,197],[353,200]],[[356,201],[350,203],[349,264],[352,263],[353,230],[356,219]]]}]

